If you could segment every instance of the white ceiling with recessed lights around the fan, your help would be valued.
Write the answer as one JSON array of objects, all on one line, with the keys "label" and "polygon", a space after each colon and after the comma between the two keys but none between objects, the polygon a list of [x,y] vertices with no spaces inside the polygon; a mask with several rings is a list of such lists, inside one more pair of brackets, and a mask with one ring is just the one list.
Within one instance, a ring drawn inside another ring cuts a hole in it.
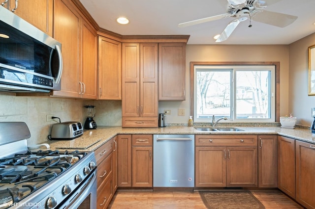
[{"label": "white ceiling with recessed lights around the fan", "polygon": [[[226,0],[80,0],[98,26],[121,35],[190,35],[188,44],[290,44],[315,32],[315,0],[280,0],[265,10],[297,16],[284,28],[244,21],[224,42],[216,43],[220,34],[233,20],[226,18],[195,26],[178,24],[226,13]],[[119,25],[116,18],[130,20]]]}]

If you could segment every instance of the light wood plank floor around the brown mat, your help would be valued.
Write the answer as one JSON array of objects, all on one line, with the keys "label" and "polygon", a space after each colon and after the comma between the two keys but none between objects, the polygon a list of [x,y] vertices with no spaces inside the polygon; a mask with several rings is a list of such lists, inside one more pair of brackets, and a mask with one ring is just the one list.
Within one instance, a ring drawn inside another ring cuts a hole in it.
[{"label": "light wood plank floor around the brown mat", "polygon": [[[266,209],[302,209],[281,191],[252,191]],[[117,190],[108,209],[206,209],[199,192]],[[241,208],[241,207],[240,207]]]}]

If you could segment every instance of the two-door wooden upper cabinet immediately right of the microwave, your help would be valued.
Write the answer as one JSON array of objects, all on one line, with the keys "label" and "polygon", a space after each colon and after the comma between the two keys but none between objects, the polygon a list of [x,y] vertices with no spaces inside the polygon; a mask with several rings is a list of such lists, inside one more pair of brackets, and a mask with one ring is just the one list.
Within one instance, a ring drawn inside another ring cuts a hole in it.
[{"label": "two-door wooden upper cabinet immediately right of the microwave", "polygon": [[54,38],[62,43],[63,75],[61,91],[53,95],[96,99],[96,30],[71,0],[55,1]]}]

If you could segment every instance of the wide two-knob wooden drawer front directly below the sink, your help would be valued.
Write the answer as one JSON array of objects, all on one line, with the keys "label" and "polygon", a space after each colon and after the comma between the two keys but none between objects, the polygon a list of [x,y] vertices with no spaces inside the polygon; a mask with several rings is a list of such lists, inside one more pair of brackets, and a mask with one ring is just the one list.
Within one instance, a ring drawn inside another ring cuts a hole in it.
[{"label": "wide two-knob wooden drawer front directly below the sink", "polygon": [[257,146],[257,135],[195,135],[196,146]]}]

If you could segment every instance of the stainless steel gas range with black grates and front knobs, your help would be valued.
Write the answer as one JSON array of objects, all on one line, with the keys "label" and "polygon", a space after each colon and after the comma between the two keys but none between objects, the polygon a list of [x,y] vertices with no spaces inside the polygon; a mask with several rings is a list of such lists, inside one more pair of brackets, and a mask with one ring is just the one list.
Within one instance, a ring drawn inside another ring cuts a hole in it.
[{"label": "stainless steel gas range with black grates and front knobs", "polygon": [[93,152],[28,149],[24,122],[0,123],[0,209],[96,208]]}]

